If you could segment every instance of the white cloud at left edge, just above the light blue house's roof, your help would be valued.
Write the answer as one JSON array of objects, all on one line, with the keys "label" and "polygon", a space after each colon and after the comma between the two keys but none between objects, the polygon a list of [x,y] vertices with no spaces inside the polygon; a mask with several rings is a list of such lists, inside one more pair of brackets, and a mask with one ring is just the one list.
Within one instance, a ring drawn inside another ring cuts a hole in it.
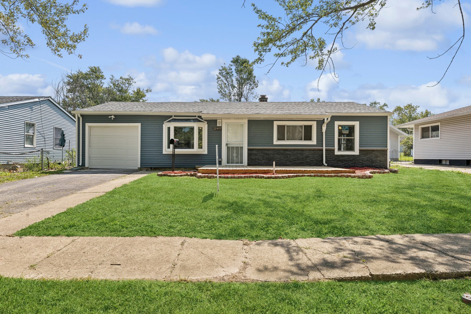
[{"label": "white cloud at left edge, just above the light blue house's roof", "polygon": [[50,96],[48,86],[46,77],[41,74],[0,74],[2,96]]}]

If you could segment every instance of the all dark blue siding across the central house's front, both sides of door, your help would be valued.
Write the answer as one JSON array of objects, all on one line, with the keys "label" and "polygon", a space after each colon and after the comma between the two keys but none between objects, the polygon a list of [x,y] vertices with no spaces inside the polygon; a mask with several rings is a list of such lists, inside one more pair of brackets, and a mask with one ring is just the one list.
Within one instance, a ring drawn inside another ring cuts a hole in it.
[{"label": "all dark blue siding across the central house's front, both sides of door", "polygon": [[[163,122],[171,116],[157,115],[82,115],[82,163],[85,165],[85,124],[86,123],[140,123],[141,124],[141,167],[168,168],[171,167],[171,154],[162,154]],[[273,144],[273,123],[275,120],[248,120],[247,147],[300,147],[322,148],[323,120],[316,121],[316,145],[302,144]],[[282,121],[282,120],[276,120]],[[288,120],[289,121],[289,120]],[[360,148],[387,148],[388,118],[387,116],[332,116],[327,124],[326,147],[334,147],[335,121],[359,121]],[[216,145],[219,145],[219,158],[222,158],[222,131],[213,131],[217,120],[206,120],[208,123],[208,153],[207,154],[177,154],[177,167],[195,167],[197,165],[214,165],[216,162]],[[220,164],[220,163],[219,163]]]}]

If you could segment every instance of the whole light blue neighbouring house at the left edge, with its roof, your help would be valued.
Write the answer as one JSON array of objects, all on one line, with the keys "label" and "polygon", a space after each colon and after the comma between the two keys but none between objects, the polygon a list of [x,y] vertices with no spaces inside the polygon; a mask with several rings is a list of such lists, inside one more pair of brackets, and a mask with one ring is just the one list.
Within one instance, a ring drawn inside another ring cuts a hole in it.
[{"label": "whole light blue neighbouring house at the left edge, with its roof", "polygon": [[0,152],[20,153],[37,149],[75,148],[75,118],[51,97],[0,97]]}]

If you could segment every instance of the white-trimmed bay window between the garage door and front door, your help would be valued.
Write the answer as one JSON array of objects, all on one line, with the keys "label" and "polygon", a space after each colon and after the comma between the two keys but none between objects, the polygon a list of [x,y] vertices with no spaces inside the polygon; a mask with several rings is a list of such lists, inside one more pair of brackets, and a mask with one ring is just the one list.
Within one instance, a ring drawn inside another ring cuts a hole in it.
[{"label": "white-trimmed bay window between the garage door and front door", "polygon": [[197,117],[171,118],[163,124],[163,153],[171,154],[171,139],[178,139],[178,154],[207,154],[207,123]]}]

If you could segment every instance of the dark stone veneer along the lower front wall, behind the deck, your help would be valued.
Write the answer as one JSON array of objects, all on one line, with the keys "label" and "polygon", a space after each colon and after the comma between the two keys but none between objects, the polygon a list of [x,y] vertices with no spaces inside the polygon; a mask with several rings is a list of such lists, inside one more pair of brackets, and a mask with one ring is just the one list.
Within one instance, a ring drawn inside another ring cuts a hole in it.
[{"label": "dark stone veneer along the lower front wall, behind the deck", "polygon": [[[322,149],[248,149],[247,165],[321,166]],[[325,149],[325,162],[332,167],[388,168],[386,149],[360,149],[359,155],[335,155]]]}]

